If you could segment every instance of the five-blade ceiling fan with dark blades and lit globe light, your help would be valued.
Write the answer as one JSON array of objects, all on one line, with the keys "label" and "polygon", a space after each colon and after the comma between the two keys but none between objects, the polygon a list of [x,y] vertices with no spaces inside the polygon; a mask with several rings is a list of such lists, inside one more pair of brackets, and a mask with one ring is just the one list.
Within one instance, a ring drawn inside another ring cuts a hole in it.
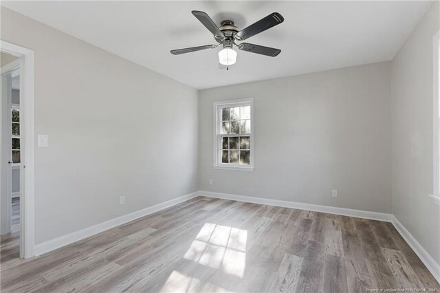
[{"label": "five-blade ceiling fan with dark blades and lit globe light", "polygon": [[214,49],[223,45],[223,50],[219,52],[219,68],[227,68],[236,62],[236,51],[234,51],[234,45],[241,51],[262,54],[265,56],[275,57],[280,54],[281,50],[274,49],[272,47],[265,47],[261,45],[254,45],[251,43],[236,43],[245,41],[251,36],[264,32],[275,25],[278,25],[284,21],[284,18],[278,12],[271,13],[267,17],[260,19],[256,23],[249,25],[243,30],[239,30],[234,25],[234,21],[225,20],[221,22],[221,26],[217,25],[212,21],[212,19],[202,11],[192,10],[192,14],[199,19],[199,21],[205,25],[205,27],[214,35],[215,41],[219,43],[218,45],[203,45],[198,47],[188,47],[184,49],[171,50],[171,54],[179,55],[200,50]]}]

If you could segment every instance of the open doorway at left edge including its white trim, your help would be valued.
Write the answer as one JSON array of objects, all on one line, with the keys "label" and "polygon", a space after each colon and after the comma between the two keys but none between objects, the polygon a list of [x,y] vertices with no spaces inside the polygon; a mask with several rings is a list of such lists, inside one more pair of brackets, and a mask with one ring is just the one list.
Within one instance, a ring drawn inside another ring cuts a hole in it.
[{"label": "open doorway at left edge including its white trim", "polygon": [[0,41],[1,261],[34,256],[32,50]]}]

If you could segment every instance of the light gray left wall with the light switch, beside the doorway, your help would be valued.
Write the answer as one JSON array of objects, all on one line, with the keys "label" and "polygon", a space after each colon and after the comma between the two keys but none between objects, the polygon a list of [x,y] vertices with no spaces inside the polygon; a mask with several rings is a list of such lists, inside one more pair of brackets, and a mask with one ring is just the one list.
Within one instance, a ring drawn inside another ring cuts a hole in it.
[{"label": "light gray left wall with the light switch, beside the doorway", "polygon": [[34,50],[35,133],[49,135],[36,244],[197,191],[195,89],[6,8],[1,39]]}]

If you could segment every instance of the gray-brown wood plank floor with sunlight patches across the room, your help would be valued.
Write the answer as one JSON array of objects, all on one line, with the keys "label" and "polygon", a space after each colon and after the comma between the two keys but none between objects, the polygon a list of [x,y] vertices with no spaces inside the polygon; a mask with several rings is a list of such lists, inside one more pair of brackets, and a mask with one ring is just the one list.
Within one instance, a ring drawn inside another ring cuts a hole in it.
[{"label": "gray-brown wood plank floor with sunlight patches across the room", "polygon": [[[3,257],[3,248],[1,253]],[[440,292],[437,281],[390,223],[208,197],[196,197],[41,257],[1,263],[1,292],[369,288]]]}]

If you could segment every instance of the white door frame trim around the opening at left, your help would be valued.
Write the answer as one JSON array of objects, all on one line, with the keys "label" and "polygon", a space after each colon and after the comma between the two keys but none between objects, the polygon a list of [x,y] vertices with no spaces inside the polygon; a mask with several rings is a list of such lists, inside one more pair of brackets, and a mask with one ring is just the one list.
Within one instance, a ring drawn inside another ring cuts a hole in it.
[{"label": "white door frame trim around the opening at left", "polygon": [[[0,40],[0,51],[20,59],[20,257],[34,257],[34,51]],[[1,157],[1,156],[0,156]],[[5,162],[0,158],[0,165]]]}]

